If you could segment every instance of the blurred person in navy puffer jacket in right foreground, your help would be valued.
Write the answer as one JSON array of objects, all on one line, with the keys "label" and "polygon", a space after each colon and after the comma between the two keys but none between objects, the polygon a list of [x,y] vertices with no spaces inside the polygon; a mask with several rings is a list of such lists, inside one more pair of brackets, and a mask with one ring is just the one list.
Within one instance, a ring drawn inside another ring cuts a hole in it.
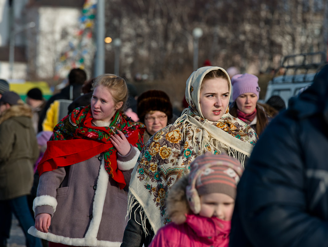
[{"label": "blurred person in navy puffer jacket in right foreground", "polygon": [[328,246],[328,65],[256,143],[237,186],[230,247]]}]

